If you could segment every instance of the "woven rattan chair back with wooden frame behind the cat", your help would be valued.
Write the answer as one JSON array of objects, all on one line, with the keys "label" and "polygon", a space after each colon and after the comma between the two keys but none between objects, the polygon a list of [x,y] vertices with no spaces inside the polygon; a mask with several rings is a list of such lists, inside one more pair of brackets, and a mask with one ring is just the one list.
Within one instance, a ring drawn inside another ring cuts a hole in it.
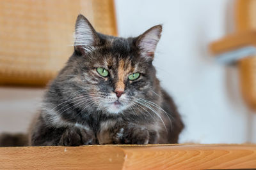
[{"label": "woven rattan chair back with wooden frame behind the cat", "polygon": [[74,50],[79,13],[116,35],[112,0],[1,0],[0,85],[45,85]]}]

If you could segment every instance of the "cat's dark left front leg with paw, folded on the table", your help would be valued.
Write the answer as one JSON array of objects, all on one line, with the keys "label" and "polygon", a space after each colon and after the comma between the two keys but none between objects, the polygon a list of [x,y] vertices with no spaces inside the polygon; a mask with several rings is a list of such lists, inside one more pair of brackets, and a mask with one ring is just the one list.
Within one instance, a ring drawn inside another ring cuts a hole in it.
[{"label": "cat's dark left front leg with paw, folded on the table", "polygon": [[90,127],[77,125],[54,125],[39,117],[31,126],[29,145],[31,146],[79,146],[96,144]]}]

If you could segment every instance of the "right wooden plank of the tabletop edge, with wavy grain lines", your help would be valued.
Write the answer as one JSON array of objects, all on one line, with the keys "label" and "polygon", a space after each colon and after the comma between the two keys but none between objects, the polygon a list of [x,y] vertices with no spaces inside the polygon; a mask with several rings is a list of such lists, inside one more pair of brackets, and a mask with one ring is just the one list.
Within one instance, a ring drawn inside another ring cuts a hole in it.
[{"label": "right wooden plank of the tabletop edge, with wavy grain lines", "polygon": [[249,145],[175,145],[125,148],[125,169],[233,169],[256,167]]}]

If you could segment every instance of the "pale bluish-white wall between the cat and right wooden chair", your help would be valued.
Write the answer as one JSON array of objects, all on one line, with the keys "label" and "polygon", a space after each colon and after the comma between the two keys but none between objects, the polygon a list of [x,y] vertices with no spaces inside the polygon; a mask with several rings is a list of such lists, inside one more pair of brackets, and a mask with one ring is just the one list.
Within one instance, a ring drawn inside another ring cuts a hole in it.
[{"label": "pale bluish-white wall between the cat and right wooden chair", "polygon": [[138,36],[163,24],[154,65],[186,124],[180,142],[256,142],[256,114],[241,99],[236,67],[217,63],[207,50],[211,41],[234,30],[235,1],[115,2],[120,36]]}]

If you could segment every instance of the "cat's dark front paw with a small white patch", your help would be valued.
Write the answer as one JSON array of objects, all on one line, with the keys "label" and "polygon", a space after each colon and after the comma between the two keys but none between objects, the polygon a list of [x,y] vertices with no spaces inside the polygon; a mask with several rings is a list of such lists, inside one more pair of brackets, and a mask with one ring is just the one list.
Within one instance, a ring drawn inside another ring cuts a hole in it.
[{"label": "cat's dark front paw with a small white patch", "polygon": [[148,144],[149,132],[145,127],[124,125],[117,126],[113,131],[113,143],[115,144]]}]

